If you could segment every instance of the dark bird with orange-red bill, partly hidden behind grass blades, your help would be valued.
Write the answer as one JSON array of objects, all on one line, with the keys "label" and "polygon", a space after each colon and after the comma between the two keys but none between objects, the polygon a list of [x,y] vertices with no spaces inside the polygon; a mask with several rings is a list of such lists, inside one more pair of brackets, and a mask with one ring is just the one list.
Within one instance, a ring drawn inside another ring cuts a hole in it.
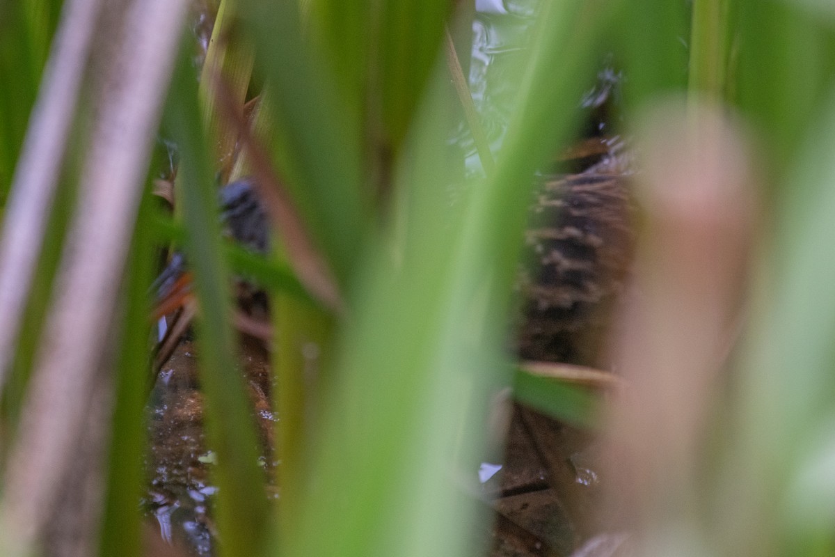
[{"label": "dark bird with orange-red bill, partly hidden behind grass blades", "polygon": [[[218,196],[225,234],[266,253],[269,219],[252,179],[230,182]],[[514,344],[520,359],[599,363],[600,342],[630,266],[633,220],[624,175],[539,177],[515,284]],[[190,292],[184,256],[171,256],[152,290],[155,318],[183,305]]]}]

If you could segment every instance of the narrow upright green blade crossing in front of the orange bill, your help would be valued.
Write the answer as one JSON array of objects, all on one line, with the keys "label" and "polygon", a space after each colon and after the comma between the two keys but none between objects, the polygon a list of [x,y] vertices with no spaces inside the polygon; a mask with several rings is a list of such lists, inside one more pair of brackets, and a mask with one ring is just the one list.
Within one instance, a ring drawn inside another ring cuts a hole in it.
[{"label": "narrow upright green blade crossing in front of the orange bill", "polygon": [[213,149],[206,140],[205,119],[196,103],[197,83],[186,52],[188,48],[182,48],[165,122],[180,145],[185,253],[200,303],[197,338],[205,422],[210,445],[218,454],[214,479],[220,493],[215,510],[222,554],[254,555],[261,551],[265,536],[264,474],[257,465],[254,418],[235,360],[230,273],[220,249]]}]

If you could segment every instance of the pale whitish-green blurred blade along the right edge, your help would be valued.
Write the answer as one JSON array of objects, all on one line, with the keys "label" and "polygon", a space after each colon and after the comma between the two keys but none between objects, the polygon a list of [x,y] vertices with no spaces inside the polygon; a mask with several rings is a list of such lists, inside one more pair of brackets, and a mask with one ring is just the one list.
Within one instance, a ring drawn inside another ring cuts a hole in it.
[{"label": "pale whitish-green blurred blade along the right edge", "polygon": [[[835,90],[823,110],[793,169],[794,195],[782,207],[772,257],[761,267],[737,392],[739,427],[729,436],[727,468],[718,483],[717,508],[745,516],[751,526],[728,532],[741,546],[781,547],[789,528],[810,534],[819,527],[810,513],[817,500],[789,499],[787,488],[812,463],[809,458],[818,458],[821,434],[835,415],[835,295],[829,287],[835,261],[822,256],[835,235],[835,164],[828,155],[835,141]],[[728,484],[745,497],[729,500],[721,491]],[[829,539],[831,534],[830,525]]]}]

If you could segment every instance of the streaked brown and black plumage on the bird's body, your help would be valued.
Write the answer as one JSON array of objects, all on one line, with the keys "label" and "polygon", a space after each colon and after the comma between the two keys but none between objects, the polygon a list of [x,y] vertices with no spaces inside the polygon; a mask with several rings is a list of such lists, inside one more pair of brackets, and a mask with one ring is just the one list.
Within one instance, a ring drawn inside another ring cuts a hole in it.
[{"label": "streaked brown and black plumage on the bird's body", "polygon": [[544,180],[525,234],[519,273],[519,357],[597,362],[634,243],[625,179],[569,175]]}]

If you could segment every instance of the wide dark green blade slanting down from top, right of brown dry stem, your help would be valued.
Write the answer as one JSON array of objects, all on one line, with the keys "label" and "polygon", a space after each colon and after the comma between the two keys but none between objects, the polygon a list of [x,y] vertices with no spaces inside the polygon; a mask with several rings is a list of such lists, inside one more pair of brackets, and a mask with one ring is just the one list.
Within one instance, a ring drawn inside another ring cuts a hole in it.
[{"label": "wide dark green blade slanting down from top, right of brown dry stem", "polygon": [[273,160],[316,245],[344,286],[369,222],[359,107],[343,104],[301,35],[296,3],[240,0],[266,77]]}]

